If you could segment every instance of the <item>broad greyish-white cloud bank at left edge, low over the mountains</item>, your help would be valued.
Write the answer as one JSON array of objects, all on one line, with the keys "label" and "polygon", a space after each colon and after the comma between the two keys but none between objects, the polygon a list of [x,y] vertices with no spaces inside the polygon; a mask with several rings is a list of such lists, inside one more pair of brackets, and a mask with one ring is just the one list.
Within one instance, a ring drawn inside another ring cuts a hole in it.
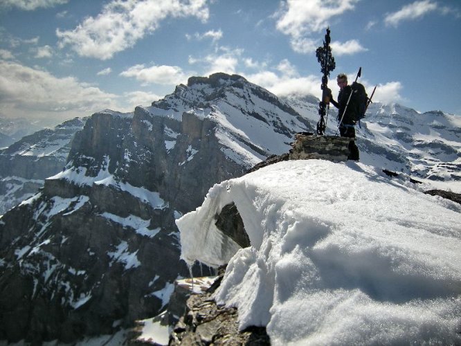
[{"label": "broad greyish-white cloud bank at left edge, low over the mountains", "polygon": [[46,71],[0,61],[0,112],[8,116],[88,116],[115,108],[116,95],[73,77],[56,78]]}]

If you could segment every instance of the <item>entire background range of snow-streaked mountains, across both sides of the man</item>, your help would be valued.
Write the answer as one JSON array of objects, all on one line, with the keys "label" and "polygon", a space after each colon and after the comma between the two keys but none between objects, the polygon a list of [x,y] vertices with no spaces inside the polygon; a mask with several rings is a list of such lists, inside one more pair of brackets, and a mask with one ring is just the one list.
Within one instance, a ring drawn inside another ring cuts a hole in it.
[{"label": "entire background range of snow-streaked mountains, across both sides of the man", "polygon": [[[174,220],[215,183],[314,132],[317,107],[216,73],[150,107],[101,111],[3,149],[0,340],[70,343],[162,311],[174,280],[190,275]],[[461,179],[455,116],[372,104],[358,133],[363,163],[437,183]]]}]

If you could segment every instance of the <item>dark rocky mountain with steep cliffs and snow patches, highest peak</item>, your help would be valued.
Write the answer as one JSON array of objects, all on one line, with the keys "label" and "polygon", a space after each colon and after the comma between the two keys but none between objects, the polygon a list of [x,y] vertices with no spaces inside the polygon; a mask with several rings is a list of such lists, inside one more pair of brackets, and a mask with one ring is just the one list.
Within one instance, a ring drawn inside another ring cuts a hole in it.
[{"label": "dark rocky mountain with steep cliffs and snow patches, highest peak", "polygon": [[64,170],[0,219],[0,340],[71,342],[159,313],[190,275],[174,219],[309,129],[268,91],[224,74],[133,113],[93,114]]}]

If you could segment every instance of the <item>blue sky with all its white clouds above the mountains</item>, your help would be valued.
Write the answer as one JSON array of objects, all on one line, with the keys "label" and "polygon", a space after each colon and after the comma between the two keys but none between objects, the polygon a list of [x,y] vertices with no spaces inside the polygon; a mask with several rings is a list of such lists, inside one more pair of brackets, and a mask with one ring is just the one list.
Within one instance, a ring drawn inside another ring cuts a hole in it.
[{"label": "blue sky with all its white clouds above the mountains", "polygon": [[61,121],[149,105],[192,75],[320,96],[336,69],[375,100],[461,115],[458,0],[1,0],[0,116]]}]

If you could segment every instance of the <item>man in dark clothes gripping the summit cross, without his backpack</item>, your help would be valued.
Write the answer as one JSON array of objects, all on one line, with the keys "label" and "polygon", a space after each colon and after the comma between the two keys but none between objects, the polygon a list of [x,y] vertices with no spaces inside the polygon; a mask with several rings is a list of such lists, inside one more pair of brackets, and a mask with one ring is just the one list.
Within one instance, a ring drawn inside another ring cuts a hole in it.
[{"label": "man in dark clothes gripping the summit cross, without his backpack", "polygon": [[[341,137],[355,138],[355,122],[356,122],[356,104],[354,98],[350,98],[352,87],[347,85],[347,75],[344,73],[338,74],[336,78],[339,86],[338,102],[330,98],[330,102],[338,109],[339,134]],[[331,94],[331,90],[329,90]],[[349,103],[347,103],[349,102]],[[349,160],[359,161],[359,148],[355,144],[355,140],[349,142],[350,155]]]}]

